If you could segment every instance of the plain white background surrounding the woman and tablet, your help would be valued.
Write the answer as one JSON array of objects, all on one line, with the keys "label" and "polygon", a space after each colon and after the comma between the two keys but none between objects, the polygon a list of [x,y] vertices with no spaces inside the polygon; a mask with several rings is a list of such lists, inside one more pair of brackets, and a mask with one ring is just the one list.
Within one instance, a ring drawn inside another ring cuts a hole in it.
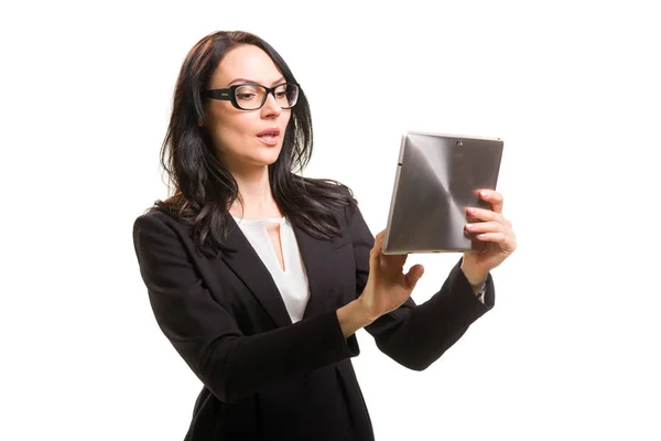
[{"label": "plain white background surrounding the woman and tablet", "polygon": [[[0,439],[183,439],[199,383],[155,324],[131,227],[166,196],[181,62],[221,29],[288,61],[313,112],[305,174],[348,184],[375,234],[403,130],[506,142],[519,249],[496,308],[423,373],[358,334],[377,440],[661,439],[652,3],[2,6]],[[410,259],[418,302],[456,258]]]}]

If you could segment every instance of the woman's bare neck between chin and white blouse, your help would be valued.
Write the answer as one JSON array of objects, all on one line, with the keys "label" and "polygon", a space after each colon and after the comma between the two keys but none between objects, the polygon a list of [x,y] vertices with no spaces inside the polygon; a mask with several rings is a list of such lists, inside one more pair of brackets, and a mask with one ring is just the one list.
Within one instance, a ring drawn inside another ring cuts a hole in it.
[{"label": "woman's bare neck between chin and white blouse", "polygon": [[282,217],[271,193],[268,166],[232,171],[232,175],[239,185],[239,197],[229,209],[232,216],[245,219]]}]

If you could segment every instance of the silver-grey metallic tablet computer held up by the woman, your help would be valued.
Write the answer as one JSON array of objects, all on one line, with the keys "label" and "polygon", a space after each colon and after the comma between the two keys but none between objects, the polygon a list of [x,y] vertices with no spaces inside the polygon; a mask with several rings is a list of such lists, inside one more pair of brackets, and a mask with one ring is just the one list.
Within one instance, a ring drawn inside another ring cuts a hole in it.
[{"label": "silver-grey metallic tablet computer held up by the woman", "polygon": [[499,138],[408,131],[402,136],[383,254],[473,249],[466,207],[490,205],[479,189],[496,190]]}]

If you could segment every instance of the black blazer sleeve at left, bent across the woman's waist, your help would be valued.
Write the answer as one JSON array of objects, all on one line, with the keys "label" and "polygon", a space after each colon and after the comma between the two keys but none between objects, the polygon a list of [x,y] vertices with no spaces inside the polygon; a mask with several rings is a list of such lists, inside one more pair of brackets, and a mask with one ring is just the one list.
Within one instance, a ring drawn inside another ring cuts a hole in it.
[{"label": "black blazer sleeve at left, bent across the woman's waist", "polygon": [[335,311],[245,336],[197,276],[177,233],[150,213],[133,224],[141,277],[156,322],[199,380],[237,401],[281,380],[357,355]]}]

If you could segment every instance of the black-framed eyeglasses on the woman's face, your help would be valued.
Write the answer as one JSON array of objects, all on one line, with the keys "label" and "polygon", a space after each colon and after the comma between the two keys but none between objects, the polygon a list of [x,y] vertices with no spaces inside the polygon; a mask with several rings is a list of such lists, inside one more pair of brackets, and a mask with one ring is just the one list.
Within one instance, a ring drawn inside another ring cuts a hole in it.
[{"label": "black-framed eyeglasses on the woman's face", "polygon": [[241,110],[257,110],[267,103],[269,94],[273,95],[275,103],[283,109],[291,109],[299,100],[299,85],[296,83],[282,83],[273,87],[260,84],[235,84],[227,89],[210,89],[204,96],[212,99],[231,101],[231,105]]}]

